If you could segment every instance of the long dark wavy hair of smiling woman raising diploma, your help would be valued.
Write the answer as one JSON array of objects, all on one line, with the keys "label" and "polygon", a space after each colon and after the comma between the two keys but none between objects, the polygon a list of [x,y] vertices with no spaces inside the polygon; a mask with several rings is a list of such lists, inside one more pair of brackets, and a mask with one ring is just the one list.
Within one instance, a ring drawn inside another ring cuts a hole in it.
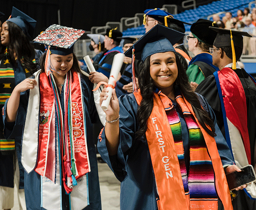
[{"label": "long dark wavy hair of smiling woman raising diploma", "polygon": [[[201,107],[200,101],[197,94],[192,90],[187,74],[184,71],[184,68],[180,62],[180,59],[175,53],[177,68],[178,68],[178,77],[174,82],[174,86],[178,86],[180,92],[183,94],[184,98],[191,104],[193,111],[202,125],[202,127],[209,133],[211,136],[216,136],[215,127],[212,119],[209,117],[207,111],[203,110]],[[147,121],[153,109],[153,98],[154,98],[154,82],[150,76],[150,56],[146,58],[142,71],[139,74],[139,86],[140,93],[142,95],[142,101],[138,107],[137,118],[139,122],[139,130],[136,132],[136,138],[143,136],[147,130]],[[206,126],[208,125],[210,129]]]}]

